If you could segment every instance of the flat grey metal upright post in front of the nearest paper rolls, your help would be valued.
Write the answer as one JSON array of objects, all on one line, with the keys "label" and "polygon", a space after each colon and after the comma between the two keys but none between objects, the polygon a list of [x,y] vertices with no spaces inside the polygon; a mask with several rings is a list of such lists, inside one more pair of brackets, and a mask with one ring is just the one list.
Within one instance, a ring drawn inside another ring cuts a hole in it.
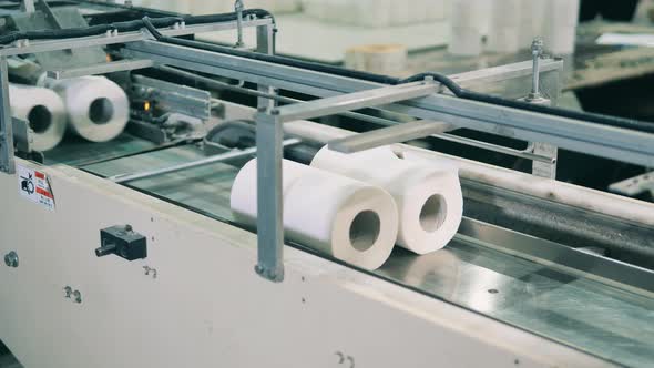
[{"label": "flat grey metal upright post in front of the nearest paper rolls", "polygon": [[256,115],[257,141],[257,274],[284,280],[284,219],[282,197],[282,137],[278,116]]}]

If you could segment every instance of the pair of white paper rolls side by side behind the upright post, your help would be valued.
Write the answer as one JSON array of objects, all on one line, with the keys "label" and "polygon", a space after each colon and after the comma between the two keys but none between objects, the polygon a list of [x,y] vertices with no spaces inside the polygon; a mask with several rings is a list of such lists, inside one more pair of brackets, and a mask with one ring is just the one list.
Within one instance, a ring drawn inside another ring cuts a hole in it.
[{"label": "pair of white paper rolls side by side behind the upright post", "polygon": [[[256,159],[232,187],[234,218],[255,227]],[[310,166],[283,162],[288,239],[366,269],[380,267],[397,243],[417,254],[444,247],[463,212],[458,168],[390,146],[343,154],[323,147]]]}]

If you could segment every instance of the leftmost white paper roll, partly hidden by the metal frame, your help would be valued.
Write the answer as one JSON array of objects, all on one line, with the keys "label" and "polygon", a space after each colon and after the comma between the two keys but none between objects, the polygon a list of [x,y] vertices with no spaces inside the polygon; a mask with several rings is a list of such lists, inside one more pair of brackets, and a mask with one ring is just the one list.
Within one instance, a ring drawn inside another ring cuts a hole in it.
[{"label": "leftmost white paper roll, partly hidden by the metal frame", "polygon": [[9,84],[11,115],[24,120],[32,130],[32,149],[54,149],[65,133],[65,109],[61,98],[44,88]]}]

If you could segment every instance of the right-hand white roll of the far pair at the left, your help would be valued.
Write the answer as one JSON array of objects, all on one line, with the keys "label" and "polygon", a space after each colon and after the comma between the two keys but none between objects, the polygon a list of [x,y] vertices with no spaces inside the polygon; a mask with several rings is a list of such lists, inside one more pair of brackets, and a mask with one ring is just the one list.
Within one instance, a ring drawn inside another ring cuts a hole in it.
[{"label": "right-hand white roll of the far pair at the left", "polygon": [[125,91],[103,76],[48,81],[64,102],[69,127],[91,142],[119,136],[130,117]]}]

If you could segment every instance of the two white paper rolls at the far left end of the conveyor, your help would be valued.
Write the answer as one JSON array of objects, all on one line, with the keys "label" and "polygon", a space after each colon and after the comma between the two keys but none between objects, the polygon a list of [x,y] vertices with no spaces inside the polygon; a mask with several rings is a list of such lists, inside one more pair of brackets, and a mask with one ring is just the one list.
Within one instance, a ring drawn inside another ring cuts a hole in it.
[{"label": "two white paper rolls at the far left end of the conveyor", "polygon": [[127,124],[125,92],[103,76],[45,81],[45,86],[9,84],[12,116],[30,125],[32,149],[55,147],[68,130],[91,142],[106,142]]}]

